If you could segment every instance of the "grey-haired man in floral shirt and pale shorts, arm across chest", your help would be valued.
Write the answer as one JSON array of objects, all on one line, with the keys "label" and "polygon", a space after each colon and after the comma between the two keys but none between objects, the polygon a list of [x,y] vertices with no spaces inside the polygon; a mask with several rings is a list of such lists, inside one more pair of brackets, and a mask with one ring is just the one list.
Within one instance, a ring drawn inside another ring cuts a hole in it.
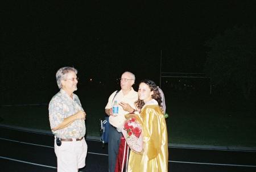
[{"label": "grey-haired man in floral shirt and pale shorts, arm across chest", "polygon": [[77,70],[60,68],[56,73],[59,93],[49,103],[49,123],[55,135],[54,149],[58,172],[77,172],[85,166],[87,144],[85,142],[85,112],[77,90]]}]

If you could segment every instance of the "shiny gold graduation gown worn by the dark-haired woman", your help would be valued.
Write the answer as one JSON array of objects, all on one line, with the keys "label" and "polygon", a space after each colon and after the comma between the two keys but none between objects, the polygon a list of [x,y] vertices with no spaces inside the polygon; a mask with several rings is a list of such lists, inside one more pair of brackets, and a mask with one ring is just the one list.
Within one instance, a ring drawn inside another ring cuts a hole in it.
[{"label": "shiny gold graduation gown worn by the dark-haired woman", "polygon": [[143,150],[141,153],[131,150],[127,171],[168,171],[168,136],[162,110],[158,104],[146,104],[140,116],[143,121]]}]

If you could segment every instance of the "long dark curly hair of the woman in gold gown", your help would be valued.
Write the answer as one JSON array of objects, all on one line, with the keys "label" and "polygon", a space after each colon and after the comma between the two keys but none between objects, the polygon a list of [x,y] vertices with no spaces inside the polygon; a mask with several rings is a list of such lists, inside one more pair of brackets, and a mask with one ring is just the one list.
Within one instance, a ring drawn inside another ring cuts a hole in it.
[{"label": "long dark curly hair of the woman in gold gown", "polygon": [[[154,93],[152,94],[152,98],[156,100],[156,102],[158,102],[158,105],[162,108],[162,100],[161,100],[161,96],[160,96],[160,92],[158,90],[158,86],[156,86],[155,82],[149,80],[149,79],[143,79],[139,85],[141,83],[146,83],[146,85],[148,85],[148,87],[150,87],[151,91],[154,91]],[[139,111],[141,111],[141,108],[144,106],[144,101],[140,100],[138,98],[138,100],[135,102],[135,106],[138,108]]]}]

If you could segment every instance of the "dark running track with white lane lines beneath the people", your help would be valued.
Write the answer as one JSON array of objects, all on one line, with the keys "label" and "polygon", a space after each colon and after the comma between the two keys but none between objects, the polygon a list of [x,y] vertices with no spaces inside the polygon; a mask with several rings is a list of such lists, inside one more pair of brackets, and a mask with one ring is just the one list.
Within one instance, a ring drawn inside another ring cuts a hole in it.
[{"label": "dark running track with white lane lines beneath the people", "polygon": [[[0,171],[57,171],[53,135],[0,126]],[[86,139],[86,166],[80,171],[108,171],[108,145]],[[169,147],[168,171],[256,171],[256,150]]]}]

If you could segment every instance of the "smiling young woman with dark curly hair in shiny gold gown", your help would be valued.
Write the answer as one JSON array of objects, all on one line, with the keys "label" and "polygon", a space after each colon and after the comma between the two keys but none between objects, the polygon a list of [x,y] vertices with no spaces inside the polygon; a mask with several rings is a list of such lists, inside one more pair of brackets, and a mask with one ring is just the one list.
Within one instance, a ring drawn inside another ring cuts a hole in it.
[{"label": "smiling young woman with dark curly hair in shiny gold gown", "polygon": [[143,122],[143,150],[141,153],[131,150],[127,171],[168,171],[167,126],[158,87],[144,79],[139,84],[138,94],[135,105]]}]

